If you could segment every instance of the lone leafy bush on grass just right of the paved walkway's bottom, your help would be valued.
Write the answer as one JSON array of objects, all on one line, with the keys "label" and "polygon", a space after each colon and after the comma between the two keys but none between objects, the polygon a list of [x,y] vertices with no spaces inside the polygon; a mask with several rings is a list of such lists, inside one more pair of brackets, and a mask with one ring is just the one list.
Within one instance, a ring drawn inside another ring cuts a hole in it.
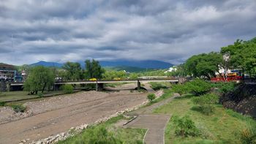
[{"label": "lone leafy bush on grass just right of the paved walkway's bottom", "polygon": [[200,135],[200,130],[197,129],[194,121],[192,121],[189,116],[186,115],[182,118],[173,116],[172,121],[176,135],[181,137],[195,137]]}]

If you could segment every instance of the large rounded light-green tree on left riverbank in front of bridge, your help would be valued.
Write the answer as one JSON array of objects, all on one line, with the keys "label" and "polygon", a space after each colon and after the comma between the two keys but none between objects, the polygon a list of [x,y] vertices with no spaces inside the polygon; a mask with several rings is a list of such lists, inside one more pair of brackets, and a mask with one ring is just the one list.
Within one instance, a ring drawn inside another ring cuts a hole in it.
[{"label": "large rounded light-green tree on left riverbank in front of bridge", "polygon": [[37,66],[31,68],[29,77],[24,83],[24,90],[30,91],[30,94],[37,94],[38,91],[45,91],[45,88],[50,88],[54,83],[53,72],[47,67]]}]

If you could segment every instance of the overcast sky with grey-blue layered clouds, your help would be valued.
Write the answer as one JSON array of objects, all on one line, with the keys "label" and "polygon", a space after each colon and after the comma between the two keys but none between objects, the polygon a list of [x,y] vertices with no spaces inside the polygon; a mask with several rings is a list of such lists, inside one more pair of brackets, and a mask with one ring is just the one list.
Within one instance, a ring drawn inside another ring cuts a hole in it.
[{"label": "overcast sky with grey-blue layered clouds", "polygon": [[181,63],[256,37],[255,0],[0,0],[0,62]]}]

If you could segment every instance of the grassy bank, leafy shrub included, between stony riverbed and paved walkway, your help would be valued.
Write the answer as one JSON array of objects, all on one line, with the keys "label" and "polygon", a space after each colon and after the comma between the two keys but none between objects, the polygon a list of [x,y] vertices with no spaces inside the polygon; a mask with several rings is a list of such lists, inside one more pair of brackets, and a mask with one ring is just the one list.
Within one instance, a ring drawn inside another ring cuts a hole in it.
[{"label": "grassy bank, leafy shrub included, between stony riverbed and paved walkway", "polygon": [[97,126],[90,126],[80,134],[60,141],[58,144],[76,143],[143,143],[146,129],[123,129],[115,126],[116,122],[126,119],[122,115],[111,118],[105,123]]}]

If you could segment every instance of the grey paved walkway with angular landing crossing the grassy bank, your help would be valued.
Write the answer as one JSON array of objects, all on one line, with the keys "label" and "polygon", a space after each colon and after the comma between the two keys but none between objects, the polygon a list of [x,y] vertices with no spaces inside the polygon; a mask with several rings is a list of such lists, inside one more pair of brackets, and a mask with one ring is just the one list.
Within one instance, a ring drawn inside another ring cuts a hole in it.
[{"label": "grey paved walkway with angular landing crossing the grassy bank", "polygon": [[129,128],[148,129],[144,137],[143,143],[165,143],[165,126],[170,120],[170,115],[153,114],[152,112],[155,108],[171,102],[177,96],[179,95],[174,94],[174,96],[170,97],[169,99],[165,99],[148,107],[143,107],[139,110],[127,113],[127,115],[136,115],[137,118],[129,122],[126,126]]}]

